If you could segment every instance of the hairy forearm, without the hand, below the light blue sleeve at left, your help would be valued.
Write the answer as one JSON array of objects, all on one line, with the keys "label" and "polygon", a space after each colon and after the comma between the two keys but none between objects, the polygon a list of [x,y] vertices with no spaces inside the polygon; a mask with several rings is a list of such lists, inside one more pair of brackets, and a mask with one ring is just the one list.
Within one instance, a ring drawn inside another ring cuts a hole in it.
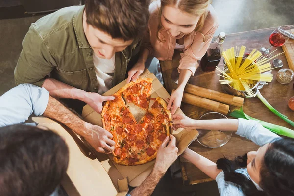
[{"label": "hairy forearm, without the hand, below the light blue sleeve at left", "polygon": [[45,117],[49,117],[54,119],[60,123],[63,123],[70,129],[72,129],[76,134],[83,137],[90,137],[91,132],[86,130],[87,126],[90,126],[89,123],[80,119],[77,115],[75,115],[72,111],[62,105],[58,100],[49,96],[48,105],[43,114]]}]

